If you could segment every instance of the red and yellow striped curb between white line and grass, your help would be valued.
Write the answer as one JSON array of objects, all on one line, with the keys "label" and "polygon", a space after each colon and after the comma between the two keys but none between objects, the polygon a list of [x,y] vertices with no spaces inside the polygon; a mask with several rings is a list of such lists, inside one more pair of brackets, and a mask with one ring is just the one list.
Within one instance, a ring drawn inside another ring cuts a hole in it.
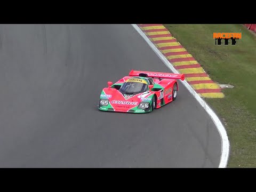
[{"label": "red and yellow striped curb between white line and grass", "polygon": [[212,81],[195,58],[172,36],[162,24],[138,24],[143,33],[163,53],[167,60],[203,98],[223,98],[221,87]]}]

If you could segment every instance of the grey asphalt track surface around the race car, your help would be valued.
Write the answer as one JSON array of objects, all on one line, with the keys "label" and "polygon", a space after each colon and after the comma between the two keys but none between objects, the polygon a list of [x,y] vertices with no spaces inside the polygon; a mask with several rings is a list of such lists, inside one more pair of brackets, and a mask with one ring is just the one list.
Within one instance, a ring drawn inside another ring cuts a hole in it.
[{"label": "grey asphalt track surface around the race car", "polygon": [[181,83],[153,113],[98,110],[131,69],[171,72],[131,25],[0,25],[0,167],[218,167],[220,135]]}]

